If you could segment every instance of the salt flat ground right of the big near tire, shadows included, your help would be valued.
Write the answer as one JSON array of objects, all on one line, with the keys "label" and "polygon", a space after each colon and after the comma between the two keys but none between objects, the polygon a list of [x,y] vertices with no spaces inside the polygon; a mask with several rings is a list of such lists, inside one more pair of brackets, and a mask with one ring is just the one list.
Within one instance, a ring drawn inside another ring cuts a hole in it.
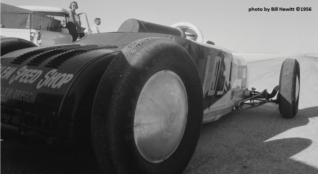
[{"label": "salt flat ground right of the big near tire, shadows included", "polygon": [[296,58],[301,83],[298,113],[286,119],[278,105],[264,104],[203,125],[197,149],[183,173],[317,174],[318,57],[257,55],[255,61],[251,54],[238,56],[248,62],[249,88],[269,93],[279,84],[285,58]]}]

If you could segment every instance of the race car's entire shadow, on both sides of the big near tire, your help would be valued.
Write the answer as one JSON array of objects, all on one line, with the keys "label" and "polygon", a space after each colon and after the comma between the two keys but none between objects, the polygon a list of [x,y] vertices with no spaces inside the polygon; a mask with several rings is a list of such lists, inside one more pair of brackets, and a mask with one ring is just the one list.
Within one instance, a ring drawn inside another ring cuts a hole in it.
[{"label": "race car's entire shadow, on both sides of the big near tire", "polygon": [[[233,111],[203,125],[197,149],[183,173],[318,173],[317,168],[290,158],[308,148],[311,139],[266,141],[308,124],[309,118],[318,116],[317,111],[318,107],[301,109],[292,119],[282,118],[275,104]],[[12,138],[1,141],[1,173],[100,174],[101,171],[92,151],[86,147],[59,149]]]}]

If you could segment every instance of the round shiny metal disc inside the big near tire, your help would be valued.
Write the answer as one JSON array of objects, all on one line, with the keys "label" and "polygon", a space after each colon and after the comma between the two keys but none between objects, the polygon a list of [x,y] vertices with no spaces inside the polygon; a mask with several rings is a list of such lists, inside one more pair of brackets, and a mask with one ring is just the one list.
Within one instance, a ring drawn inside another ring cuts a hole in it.
[{"label": "round shiny metal disc inside the big near tire", "polygon": [[134,138],[140,155],[160,163],[178,147],[185,130],[188,98],[181,78],[170,70],[156,72],[137,101]]}]

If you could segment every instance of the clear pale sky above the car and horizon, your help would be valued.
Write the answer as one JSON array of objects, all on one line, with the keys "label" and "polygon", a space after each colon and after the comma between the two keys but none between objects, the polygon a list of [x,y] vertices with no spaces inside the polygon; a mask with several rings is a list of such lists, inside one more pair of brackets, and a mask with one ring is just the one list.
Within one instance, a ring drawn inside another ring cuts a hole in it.
[{"label": "clear pale sky above the car and horizon", "polygon": [[[10,5],[42,5],[68,9],[65,0],[0,0]],[[196,25],[206,41],[232,52],[318,53],[317,0],[76,0],[76,13],[85,12],[90,28],[101,18],[100,32],[117,31],[135,18],[171,26]],[[272,7],[294,11],[272,11]],[[296,11],[308,7],[311,11]],[[262,11],[250,11],[250,8]],[[264,8],[270,9],[265,11]]]}]

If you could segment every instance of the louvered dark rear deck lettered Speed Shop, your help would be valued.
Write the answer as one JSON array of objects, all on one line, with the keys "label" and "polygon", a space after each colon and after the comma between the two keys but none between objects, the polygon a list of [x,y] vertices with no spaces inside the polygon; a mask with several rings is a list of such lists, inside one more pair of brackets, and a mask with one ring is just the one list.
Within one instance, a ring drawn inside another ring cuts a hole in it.
[{"label": "louvered dark rear deck lettered Speed Shop", "polygon": [[112,45],[65,44],[7,54],[1,57],[1,104],[52,116],[80,72],[116,50]]}]

